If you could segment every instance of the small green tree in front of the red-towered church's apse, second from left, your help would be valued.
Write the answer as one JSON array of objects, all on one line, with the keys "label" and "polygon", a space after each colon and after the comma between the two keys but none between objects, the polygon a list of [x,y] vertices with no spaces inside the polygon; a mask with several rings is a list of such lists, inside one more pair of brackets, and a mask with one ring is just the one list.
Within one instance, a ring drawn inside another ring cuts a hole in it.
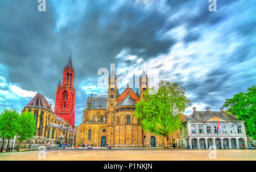
[{"label": "small green tree in front of the red-towered church's apse, second from left", "polygon": [[19,145],[17,151],[20,149],[20,144],[24,140],[32,139],[34,133],[36,132],[36,120],[34,119],[34,115],[31,112],[24,111],[18,119],[18,140]]}]

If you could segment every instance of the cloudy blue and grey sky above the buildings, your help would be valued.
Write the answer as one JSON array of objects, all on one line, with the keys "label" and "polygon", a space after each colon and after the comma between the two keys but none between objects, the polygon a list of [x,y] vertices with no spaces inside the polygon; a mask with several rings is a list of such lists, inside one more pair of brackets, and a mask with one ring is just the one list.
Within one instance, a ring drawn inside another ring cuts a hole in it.
[{"label": "cloudy blue and grey sky above the buildings", "polygon": [[21,111],[38,91],[54,109],[71,51],[75,125],[91,93],[106,96],[98,70],[110,64],[119,75],[128,71],[127,79],[144,66],[147,73],[158,69],[159,81],[184,86],[192,104],[185,115],[192,107],[219,111],[225,99],[255,85],[254,0],[217,0],[213,12],[208,0],[46,0],[45,12],[38,5],[0,1],[0,112]]}]

